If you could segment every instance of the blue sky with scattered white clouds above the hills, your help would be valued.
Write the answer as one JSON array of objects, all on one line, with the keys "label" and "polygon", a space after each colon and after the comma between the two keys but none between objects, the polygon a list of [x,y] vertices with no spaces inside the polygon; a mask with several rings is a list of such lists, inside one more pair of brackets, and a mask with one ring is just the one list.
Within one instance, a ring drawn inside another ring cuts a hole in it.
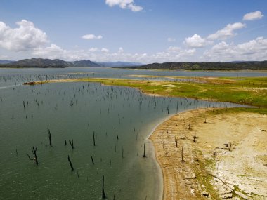
[{"label": "blue sky with scattered white clouds above the hills", "polygon": [[1,0],[0,60],[267,60],[266,0]]}]

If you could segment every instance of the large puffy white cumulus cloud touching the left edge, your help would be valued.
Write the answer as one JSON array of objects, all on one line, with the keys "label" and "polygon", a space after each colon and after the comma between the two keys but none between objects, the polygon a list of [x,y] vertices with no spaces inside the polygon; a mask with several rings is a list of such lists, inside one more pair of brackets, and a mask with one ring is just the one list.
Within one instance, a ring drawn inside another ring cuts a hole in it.
[{"label": "large puffy white cumulus cloud touching the left edge", "polygon": [[8,51],[28,51],[48,43],[47,35],[27,20],[16,23],[18,28],[12,29],[0,22],[0,47]]}]

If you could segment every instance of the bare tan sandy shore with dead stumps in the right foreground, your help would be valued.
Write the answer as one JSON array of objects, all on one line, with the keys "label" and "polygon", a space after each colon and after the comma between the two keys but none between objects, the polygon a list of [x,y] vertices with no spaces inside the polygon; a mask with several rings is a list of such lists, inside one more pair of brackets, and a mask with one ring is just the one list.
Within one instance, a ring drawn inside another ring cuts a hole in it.
[{"label": "bare tan sandy shore with dead stumps in the right foreground", "polygon": [[196,109],[164,121],[150,140],[164,200],[267,199],[266,115]]}]

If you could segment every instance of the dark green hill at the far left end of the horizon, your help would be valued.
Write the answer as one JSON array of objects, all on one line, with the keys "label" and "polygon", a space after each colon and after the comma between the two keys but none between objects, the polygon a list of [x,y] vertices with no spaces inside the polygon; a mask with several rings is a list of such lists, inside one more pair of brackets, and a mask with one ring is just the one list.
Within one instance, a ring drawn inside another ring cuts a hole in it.
[{"label": "dark green hill at the far left end of the horizon", "polygon": [[51,59],[42,59],[42,58],[31,58],[24,59],[15,62],[11,62],[0,67],[72,67],[72,63],[66,62],[64,60],[51,60]]}]

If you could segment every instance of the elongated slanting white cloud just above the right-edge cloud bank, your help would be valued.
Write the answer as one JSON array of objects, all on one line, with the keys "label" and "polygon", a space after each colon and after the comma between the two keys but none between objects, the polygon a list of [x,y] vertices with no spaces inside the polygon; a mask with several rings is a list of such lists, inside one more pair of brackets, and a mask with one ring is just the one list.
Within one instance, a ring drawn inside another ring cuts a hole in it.
[{"label": "elongated slanting white cloud just above the right-edge cloud bank", "polygon": [[235,36],[236,33],[234,32],[237,29],[242,29],[246,27],[245,24],[242,24],[240,22],[234,23],[234,24],[228,24],[223,29],[220,29],[214,34],[210,34],[207,39],[215,40],[215,39],[226,39],[230,36]]}]

